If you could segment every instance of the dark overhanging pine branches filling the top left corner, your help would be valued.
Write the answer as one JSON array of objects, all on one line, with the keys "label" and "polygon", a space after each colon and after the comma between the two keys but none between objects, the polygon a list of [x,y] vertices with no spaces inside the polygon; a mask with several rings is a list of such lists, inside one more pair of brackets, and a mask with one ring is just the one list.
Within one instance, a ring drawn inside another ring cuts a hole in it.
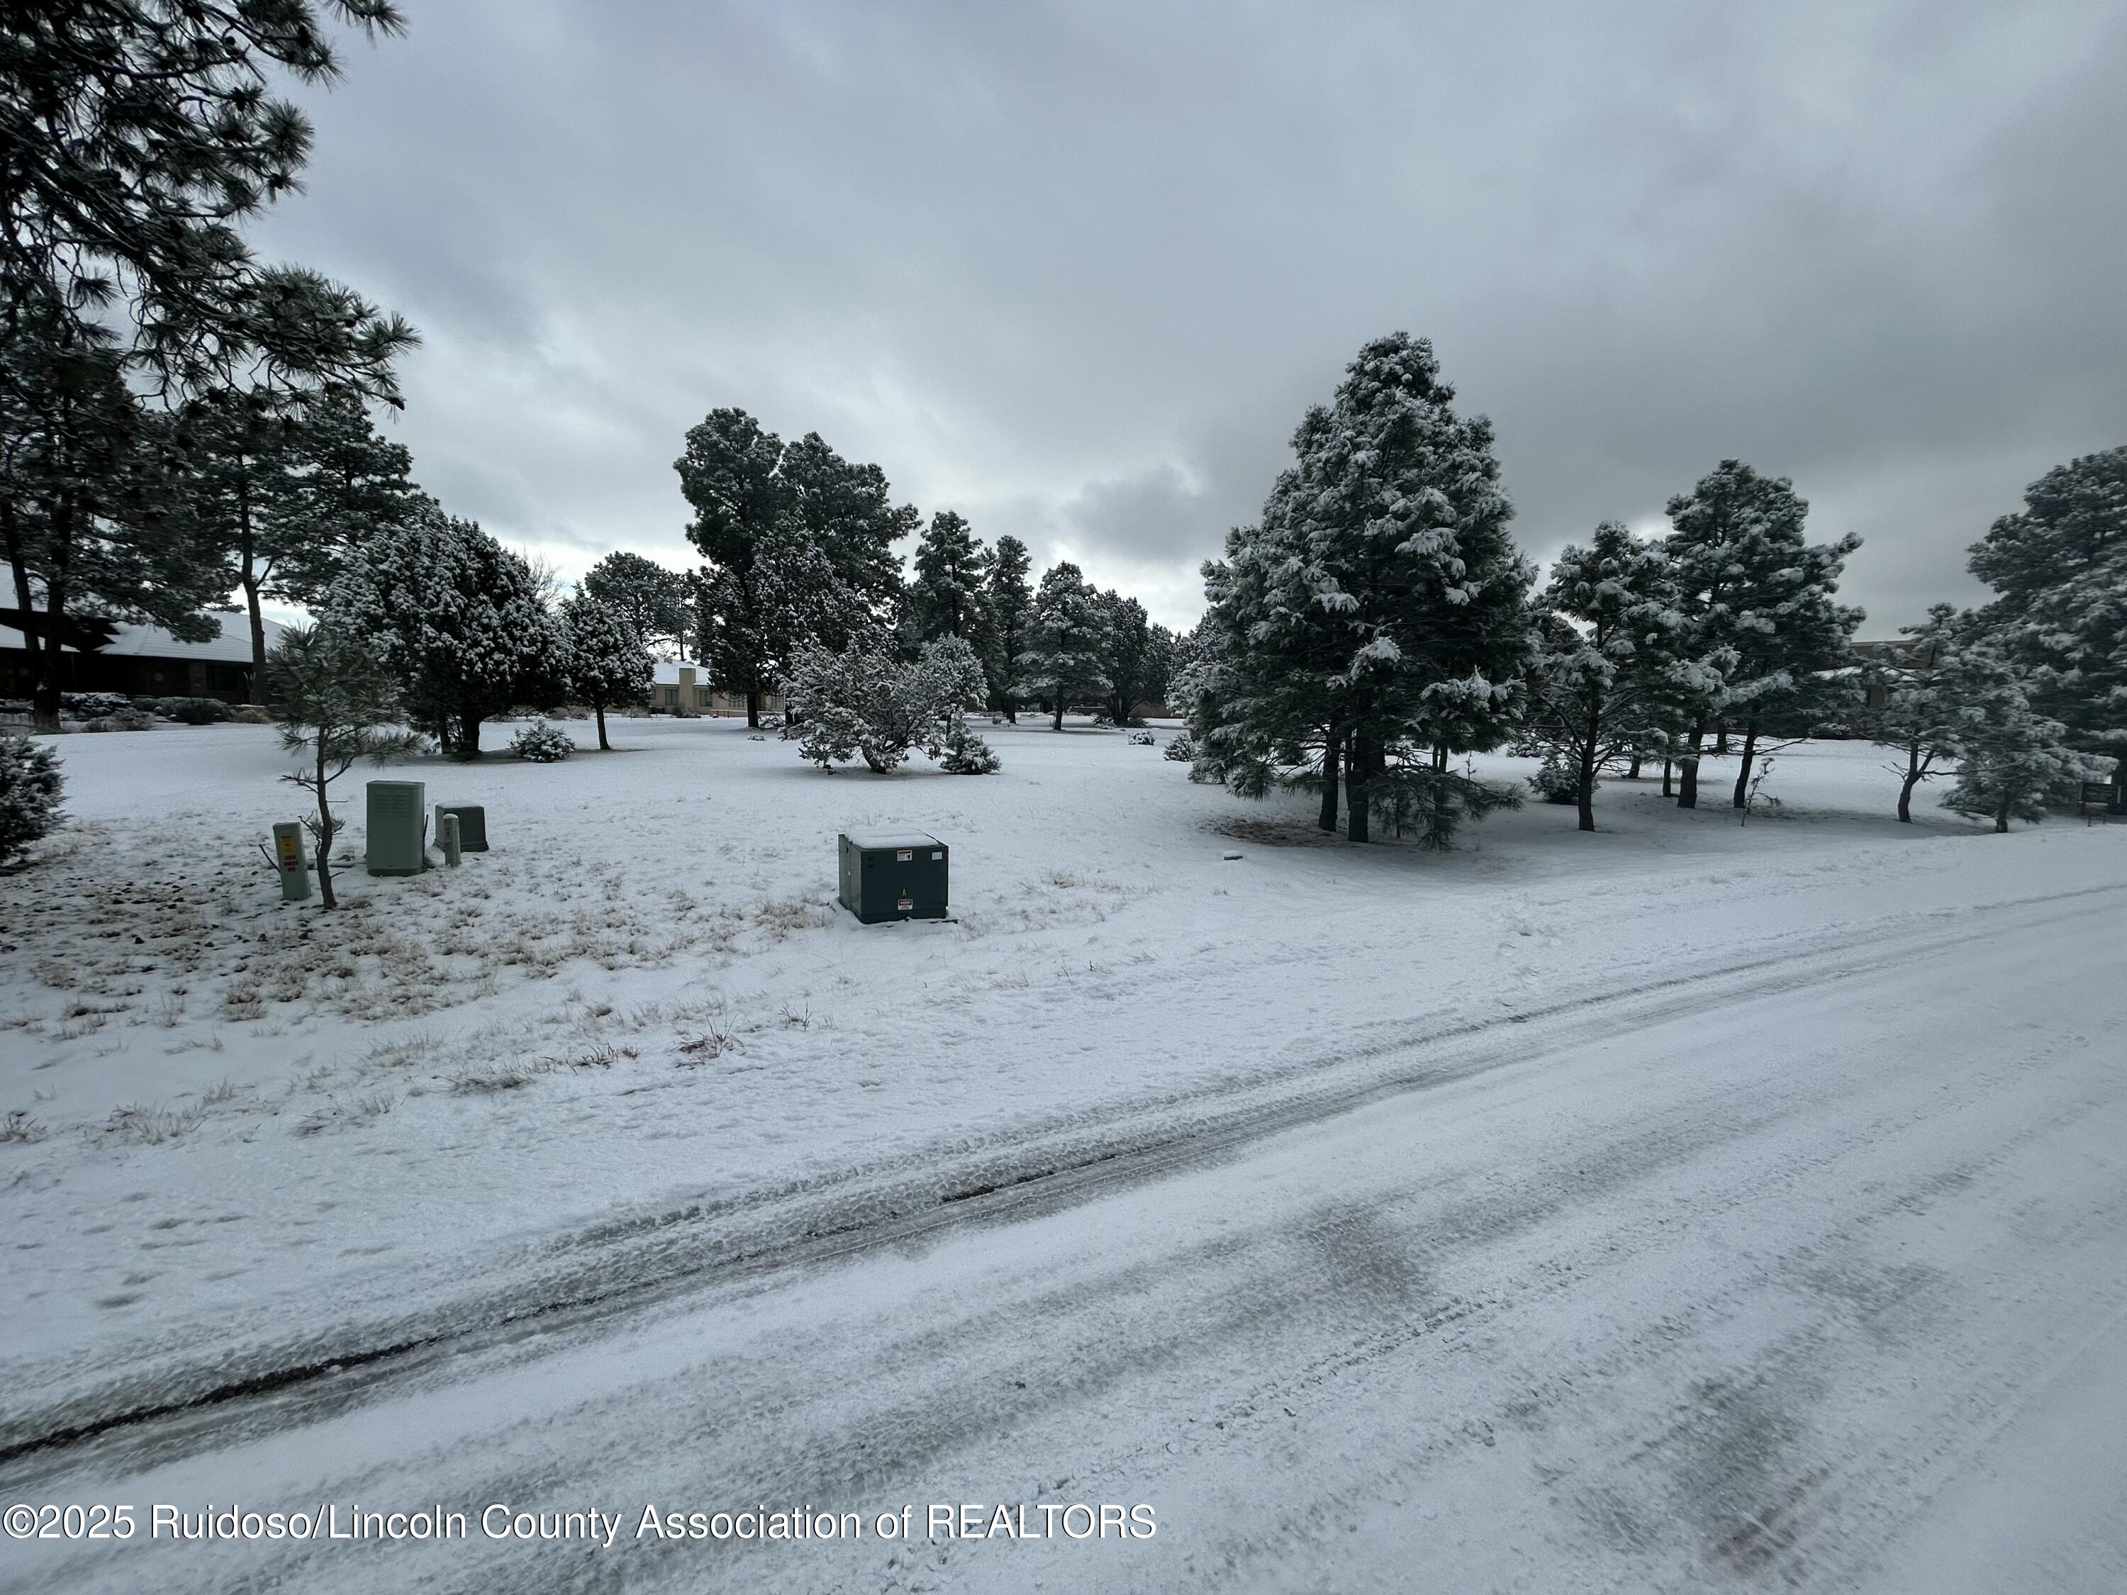
[{"label": "dark overhanging pine branches filling the top left corner", "polygon": [[[96,0],[0,23],[0,330],[62,319],[166,393],[347,381],[398,402],[396,317],[300,268],[262,268],[240,223],[300,183],[311,125],[268,89],[338,74],[336,13],[396,34],[387,0]],[[4,381],[4,376],[0,376]],[[19,398],[19,393],[17,393]]]}]

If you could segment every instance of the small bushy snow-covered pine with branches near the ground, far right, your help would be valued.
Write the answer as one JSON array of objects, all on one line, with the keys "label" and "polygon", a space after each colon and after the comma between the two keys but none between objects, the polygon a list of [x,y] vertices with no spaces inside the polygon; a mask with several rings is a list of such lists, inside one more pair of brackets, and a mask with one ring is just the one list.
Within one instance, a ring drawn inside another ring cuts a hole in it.
[{"label": "small bushy snow-covered pine with branches near the ground, far right", "polygon": [[2082,780],[2097,780],[2104,761],[2070,746],[2061,721],[2031,704],[2033,672],[2006,653],[1970,642],[1950,655],[1944,695],[1959,706],[1957,785],[1942,806],[1993,819],[2006,832],[2012,819],[2038,823],[2050,804],[2076,800]]}]

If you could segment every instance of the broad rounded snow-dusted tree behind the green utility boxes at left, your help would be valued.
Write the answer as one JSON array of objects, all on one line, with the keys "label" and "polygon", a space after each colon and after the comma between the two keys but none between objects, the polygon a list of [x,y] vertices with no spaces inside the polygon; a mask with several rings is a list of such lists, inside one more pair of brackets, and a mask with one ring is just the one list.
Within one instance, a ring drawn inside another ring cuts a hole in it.
[{"label": "broad rounded snow-dusted tree behind the green utility boxes at left", "polygon": [[455,759],[481,757],[483,721],[513,704],[549,708],[568,689],[568,632],[540,574],[434,504],[364,542],[323,608]]}]

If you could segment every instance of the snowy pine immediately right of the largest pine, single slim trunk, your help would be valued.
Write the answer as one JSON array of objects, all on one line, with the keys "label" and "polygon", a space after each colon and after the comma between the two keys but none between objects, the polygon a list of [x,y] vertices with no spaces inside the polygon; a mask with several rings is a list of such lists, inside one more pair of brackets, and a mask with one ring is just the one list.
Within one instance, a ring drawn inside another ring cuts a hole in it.
[{"label": "snowy pine immediately right of the largest pine, single slim trunk", "polygon": [[[1595,829],[1595,780],[1621,755],[1659,751],[1674,715],[1670,666],[1685,617],[1670,557],[1623,521],[1568,547],[1538,600],[1529,729]],[[1551,789],[1546,787],[1546,797]]]}]

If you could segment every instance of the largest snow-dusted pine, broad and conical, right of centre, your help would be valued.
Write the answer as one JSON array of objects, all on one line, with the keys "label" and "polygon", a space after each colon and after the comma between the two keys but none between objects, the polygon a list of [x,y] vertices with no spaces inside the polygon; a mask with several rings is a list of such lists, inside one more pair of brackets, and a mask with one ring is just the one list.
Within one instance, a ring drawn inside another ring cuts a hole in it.
[{"label": "largest snow-dusted pine, broad and conical, right of centre", "polygon": [[[1206,572],[1225,670],[1208,755],[1323,787],[1342,761],[1353,840],[1380,808],[1446,846],[1466,815],[1512,802],[1448,768],[1508,736],[1534,578],[1491,423],[1453,398],[1427,340],[1366,345],[1334,404],[1302,419],[1261,523]],[[1308,742],[1319,761],[1295,768]]]}]

